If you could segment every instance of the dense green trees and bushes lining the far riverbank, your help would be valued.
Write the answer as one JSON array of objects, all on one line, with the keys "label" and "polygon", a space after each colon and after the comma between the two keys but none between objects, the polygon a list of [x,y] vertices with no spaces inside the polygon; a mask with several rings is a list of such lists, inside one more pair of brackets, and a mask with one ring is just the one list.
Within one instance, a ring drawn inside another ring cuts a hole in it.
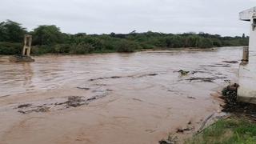
[{"label": "dense green trees and bushes lining the far riverbank", "polygon": [[248,37],[221,37],[205,33],[163,34],[148,31],[130,34],[65,34],[57,26],[26,31],[18,22],[0,23],[0,54],[20,54],[24,34],[33,35],[32,54],[90,54],[133,52],[143,49],[247,46]]}]

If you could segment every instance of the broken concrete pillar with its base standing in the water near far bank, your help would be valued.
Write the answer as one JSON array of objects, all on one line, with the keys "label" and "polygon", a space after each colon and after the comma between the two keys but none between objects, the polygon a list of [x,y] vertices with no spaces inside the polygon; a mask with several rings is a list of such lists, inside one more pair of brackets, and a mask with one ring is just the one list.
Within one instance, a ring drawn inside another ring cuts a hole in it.
[{"label": "broken concrete pillar with its base standing in the water near far bank", "polygon": [[34,62],[34,59],[30,57],[32,44],[32,35],[26,34],[24,36],[24,46],[22,55],[14,55],[10,57],[10,62]]}]

